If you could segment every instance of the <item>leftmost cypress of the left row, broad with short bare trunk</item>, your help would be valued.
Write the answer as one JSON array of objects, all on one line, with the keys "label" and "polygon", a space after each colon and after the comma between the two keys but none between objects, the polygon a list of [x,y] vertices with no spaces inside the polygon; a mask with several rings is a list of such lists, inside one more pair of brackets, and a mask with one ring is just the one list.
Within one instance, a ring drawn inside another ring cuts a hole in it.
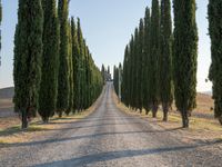
[{"label": "leftmost cypress of the left row, broad with short bare trunk", "polygon": [[19,0],[14,36],[14,109],[22,116],[22,128],[36,116],[41,80],[43,11],[41,0]]}]

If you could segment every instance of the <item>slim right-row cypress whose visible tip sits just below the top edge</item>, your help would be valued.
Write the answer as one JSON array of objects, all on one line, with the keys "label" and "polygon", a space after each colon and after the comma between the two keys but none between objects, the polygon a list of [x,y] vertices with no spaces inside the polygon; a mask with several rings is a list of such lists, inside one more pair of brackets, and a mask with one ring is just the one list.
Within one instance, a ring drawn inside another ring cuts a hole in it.
[{"label": "slim right-row cypress whose visible tip sits just below the top edge", "polygon": [[[148,115],[150,110],[150,102],[149,102],[149,71],[150,71],[150,26],[151,26],[151,18],[150,18],[150,9],[145,9],[145,17],[144,17],[144,67],[143,67],[143,107]],[[151,82],[150,82],[151,84]],[[151,87],[151,86],[150,86]]]}]

